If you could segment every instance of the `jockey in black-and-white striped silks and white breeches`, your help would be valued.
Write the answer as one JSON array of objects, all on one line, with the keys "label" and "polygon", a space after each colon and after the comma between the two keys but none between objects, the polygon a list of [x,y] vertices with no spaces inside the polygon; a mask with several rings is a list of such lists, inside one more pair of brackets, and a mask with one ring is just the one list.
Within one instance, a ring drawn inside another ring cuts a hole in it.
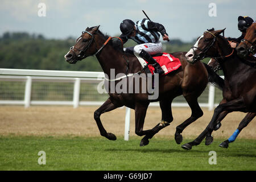
[{"label": "jockey in black-and-white striped silks and white breeches", "polygon": [[120,24],[120,30],[122,32],[120,38],[123,40],[123,43],[126,43],[128,39],[132,39],[138,43],[135,47],[126,48],[126,52],[133,52],[134,55],[142,57],[148,64],[154,66],[155,73],[159,73],[159,75],[164,73],[159,63],[151,56],[163,52],[158,32],[163,36],[163,40],[169,40],[168,34],[162,24],[151,22],[146,18],[136,23],[130,19],[125,19]]}]

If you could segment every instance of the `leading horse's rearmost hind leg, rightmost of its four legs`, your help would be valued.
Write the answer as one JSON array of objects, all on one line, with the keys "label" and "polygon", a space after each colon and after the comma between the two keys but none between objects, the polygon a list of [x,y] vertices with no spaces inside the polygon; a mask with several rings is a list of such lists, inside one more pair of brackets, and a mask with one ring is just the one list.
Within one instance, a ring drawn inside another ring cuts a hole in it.
[{"label": "leading horse's rearmost hind leg, rightmost of its four legs", "polygon": [[204,114],[197,102],[197,96],[189,94],[184,97],[187,100],[189,107],[191,108],[192,114],[191,117],[189,117],[183,123],[176,127],[175,141],[177,144],[180,144],[183,140],[181,133],[185,129],[185,127],[196,121],[196,119],[200,118]]}]

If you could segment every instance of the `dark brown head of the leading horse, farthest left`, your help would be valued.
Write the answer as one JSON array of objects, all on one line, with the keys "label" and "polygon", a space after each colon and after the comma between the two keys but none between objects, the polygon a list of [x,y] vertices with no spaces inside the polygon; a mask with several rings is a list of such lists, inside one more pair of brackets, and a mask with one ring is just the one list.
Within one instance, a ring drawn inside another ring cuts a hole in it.
[{"label": "dark brown head of the leading horse, farthest left", "polygon": [[64,56],[65,60],[70,64],[75,64],[77,61],[92,56],[97,52],[94,35],[98,31],[97,27],[86,28],[82,35],[76,39],[76,44],[70,48]]}]

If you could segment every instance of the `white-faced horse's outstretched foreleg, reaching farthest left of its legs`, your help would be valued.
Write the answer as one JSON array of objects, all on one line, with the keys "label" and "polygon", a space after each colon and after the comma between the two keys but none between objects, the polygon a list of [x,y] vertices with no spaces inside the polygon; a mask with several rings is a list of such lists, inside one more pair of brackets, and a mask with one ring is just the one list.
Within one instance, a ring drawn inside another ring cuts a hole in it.
[{"label": "white-faced horse's outstretched foreleg, reaching farthest left of its legs", "polygon": [[220,113],[222,113],[222,111],[232,112],[232,111],[242,111],[245,109],[246,109],[246,106],[244,104],[243,98],[238,98],[236,100],[226,102],[225,104],[218,105],[216,109],[214,109],[212,120],[210,121],[207,128],[203,131],[203,133],[201,133],[199,137],[197,137],[192,142],[185,143],[181,147],[186,150],[190,150],[192,146],[197,146],[198,144],[200,144],[205,137],[208,137],[208,140],[205,141],[206,142],[205,144],[208,145],[208,142],[212,143],[213,138],[210,138],[209,140],[209,137],[210,137],[210,134],[212,134],[214,127],[216,127],[217,125],[217,121],[218,121],[217,119],[219,118]]}]

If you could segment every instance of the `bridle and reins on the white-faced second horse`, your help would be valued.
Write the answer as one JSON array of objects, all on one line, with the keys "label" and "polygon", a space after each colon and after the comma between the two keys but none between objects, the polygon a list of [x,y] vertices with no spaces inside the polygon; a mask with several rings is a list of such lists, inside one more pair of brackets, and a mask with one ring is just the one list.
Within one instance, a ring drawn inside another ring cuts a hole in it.
[{"label": "bridle and reins on the white-faced second horse", "polygon": [[[207,47],[205,47],[204,49],[200,49],[200,48],[198,48],[198,47],[192,46],[192,49],[193,49],[193,52],[194,52],[194,57],[193,57],[193,61],[192,61],[191,63],[195,63],[196,61],[202,60],[202,59],[204,59],[205,57],[210,57],[210,58],[213,58],[213,59],[216,59],[216,60],[217,60],[217,59],[223,59],[223,58],[225,58],[225,57],[229,57],[229,56],[231,56],[231,55],[233,54],[234,49],[232,50],[232,53],[230,53],[230,54],[227,55],[227,56],[220,56],[220,57],[208,56],[208,55],[207,55],[207,52],[208,52],[209,49],[213,46],[213,44],[216,42],[217,37],[216,37],[216,35],[214,35],[212,32],[209,32],[209,31],[205,31],[205,32],[211,34],[211,35],[213,36],[213,40],[212,40],[212,42],[210,42],[210,43],[207,45]],[[204,33],[205,33],[205,32],[204,32]],[[199,51],[201,51],[201,52],[199,53],[199,55],[196,54],[194,48],[199,49]]]}]

